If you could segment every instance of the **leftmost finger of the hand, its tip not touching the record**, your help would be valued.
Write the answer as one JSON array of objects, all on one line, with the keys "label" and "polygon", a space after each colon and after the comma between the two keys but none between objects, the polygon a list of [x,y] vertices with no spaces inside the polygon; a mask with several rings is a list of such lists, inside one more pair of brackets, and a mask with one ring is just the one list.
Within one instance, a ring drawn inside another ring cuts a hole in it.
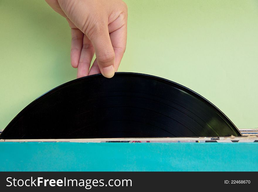
[{"label": "leftmost finger of the hand, its tip not touching the record", "polygon": [[82,51],[83,32],[79,29],[71,29],[71,65],[74,68],[78,67],[79,58]]}]

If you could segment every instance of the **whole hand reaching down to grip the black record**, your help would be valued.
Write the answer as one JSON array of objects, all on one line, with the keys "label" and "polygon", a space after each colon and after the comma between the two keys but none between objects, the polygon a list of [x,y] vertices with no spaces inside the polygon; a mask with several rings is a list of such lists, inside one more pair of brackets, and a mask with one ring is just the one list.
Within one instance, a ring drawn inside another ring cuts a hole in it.
[{"label": "whole hand reaching down to grip the black record", "polygon": [[[71,65],[77,78],[113,77],[126,48],[127,6],[121,0],[46,0],[71,27]],[[96,59],[90,68],[91,60]]]}]

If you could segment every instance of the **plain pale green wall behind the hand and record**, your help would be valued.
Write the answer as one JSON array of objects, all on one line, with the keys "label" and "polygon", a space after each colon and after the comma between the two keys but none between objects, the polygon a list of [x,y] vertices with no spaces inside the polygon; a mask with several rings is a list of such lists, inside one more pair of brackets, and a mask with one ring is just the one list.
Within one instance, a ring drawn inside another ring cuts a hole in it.
[{"label": "plain pale green wall behind the hand and record", "polygon": [[[127,0],[118,71],[201,94],[238,128],[258,126],[258,1]],[[0,0],[0,129],[46,91],[76,78],[70,30],[45,1]]]}]

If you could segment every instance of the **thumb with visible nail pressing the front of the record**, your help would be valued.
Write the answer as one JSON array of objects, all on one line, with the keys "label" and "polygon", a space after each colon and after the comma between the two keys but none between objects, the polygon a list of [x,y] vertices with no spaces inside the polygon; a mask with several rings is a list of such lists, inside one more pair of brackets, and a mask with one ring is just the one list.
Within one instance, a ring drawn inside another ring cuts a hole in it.
[{"label": "thumb with visible nail pressing the front of the record", "polygon": [[111,78],[115,74],[115,52],[109,37],[108,25],[95,28],[89,39],[95,49],[100,72],[104,77]]}]

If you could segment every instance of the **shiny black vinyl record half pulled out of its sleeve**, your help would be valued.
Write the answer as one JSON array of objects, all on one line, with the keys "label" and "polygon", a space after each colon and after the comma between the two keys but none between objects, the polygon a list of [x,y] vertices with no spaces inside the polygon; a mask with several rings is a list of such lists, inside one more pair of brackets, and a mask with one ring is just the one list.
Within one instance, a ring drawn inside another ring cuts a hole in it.
[{"label": "shiny black vinyl record half pulled out of its sleeve", "polygon": [[241,136],[218,108],[175,82],[139,73],[62,84],[24,108],[1,139]]}]

